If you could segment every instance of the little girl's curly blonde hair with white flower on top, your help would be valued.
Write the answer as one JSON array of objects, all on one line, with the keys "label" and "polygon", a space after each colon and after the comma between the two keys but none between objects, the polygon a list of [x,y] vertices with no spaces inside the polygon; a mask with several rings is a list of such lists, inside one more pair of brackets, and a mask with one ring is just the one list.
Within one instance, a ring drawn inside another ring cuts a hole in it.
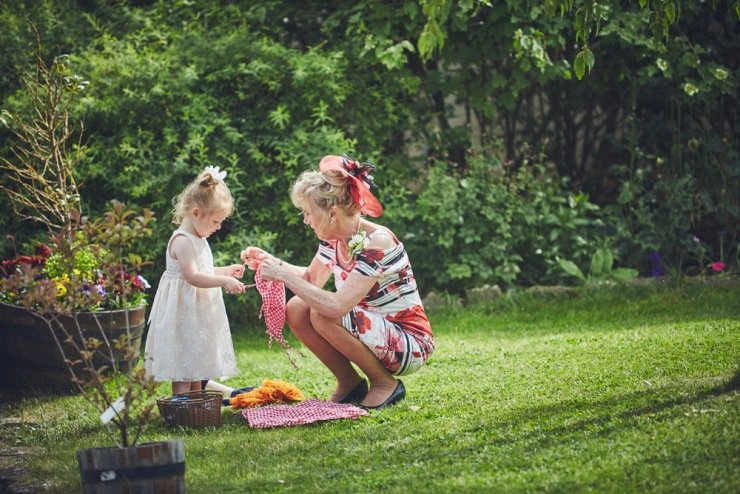
[{"label": "little girl's curly blonde hair with white flower on top", "polygon": [[226,211],[226,216],[230,216],[234,210],[234,198],[223,180],[203,171],[172,200],[172,205],[172,222],[179,225],[193,208],[205,214]]}]

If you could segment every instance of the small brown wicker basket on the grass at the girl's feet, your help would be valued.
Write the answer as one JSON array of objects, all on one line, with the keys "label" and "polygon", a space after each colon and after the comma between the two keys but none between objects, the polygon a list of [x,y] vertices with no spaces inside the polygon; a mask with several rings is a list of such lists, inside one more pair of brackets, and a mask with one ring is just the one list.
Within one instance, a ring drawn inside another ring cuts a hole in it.
[{"label": "small brown wicker basket on the grass at the girl's feet", "polygon": [[191,391],[157,398],[157,407],[166,425],[218,427],[223,397],[220,391]]}]

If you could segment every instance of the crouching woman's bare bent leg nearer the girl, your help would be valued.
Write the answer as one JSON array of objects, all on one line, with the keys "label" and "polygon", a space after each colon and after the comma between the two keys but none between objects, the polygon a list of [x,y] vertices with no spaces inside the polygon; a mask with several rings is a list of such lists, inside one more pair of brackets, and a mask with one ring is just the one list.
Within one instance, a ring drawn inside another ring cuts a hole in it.
[{"label": "crouching woman's bare bent leg nearer the girl", "polygon": [[362,379],[352,363],[332,346],[312,325],[308,305],[298,297],[288,301],[286,307],[288,327],[319,360],[334,374],[337,387],[329,401],[337,402],[347,396]]}]

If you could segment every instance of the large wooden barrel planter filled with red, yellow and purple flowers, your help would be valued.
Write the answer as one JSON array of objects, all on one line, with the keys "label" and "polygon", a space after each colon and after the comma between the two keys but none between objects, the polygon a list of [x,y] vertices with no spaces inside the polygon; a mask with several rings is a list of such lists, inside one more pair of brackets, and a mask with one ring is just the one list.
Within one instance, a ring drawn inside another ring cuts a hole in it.
[{"label": "large wooden barrel planter filled with red, yellow and purple flowers", "polygon": [[139,357],[149,285],[139,274],[147,263],[129,246],[150,232],[153,216],[134,215],[117,201],[97,221],[70,214],[49,234],[51,247],[39,244],[34,255],[0,265],[6,389],[91,385],[95,372],[102,379]]}]

